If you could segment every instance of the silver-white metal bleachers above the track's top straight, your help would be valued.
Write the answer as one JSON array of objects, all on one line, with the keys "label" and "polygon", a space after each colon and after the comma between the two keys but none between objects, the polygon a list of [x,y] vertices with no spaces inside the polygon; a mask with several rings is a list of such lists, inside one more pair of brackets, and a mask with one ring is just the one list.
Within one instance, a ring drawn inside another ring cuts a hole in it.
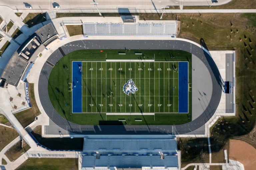
[{"label": "silver-white metal bleachers above the track's top straight", "polygon": [[87,36],[171,36],[176,37],[177,23],[83,23]]}]

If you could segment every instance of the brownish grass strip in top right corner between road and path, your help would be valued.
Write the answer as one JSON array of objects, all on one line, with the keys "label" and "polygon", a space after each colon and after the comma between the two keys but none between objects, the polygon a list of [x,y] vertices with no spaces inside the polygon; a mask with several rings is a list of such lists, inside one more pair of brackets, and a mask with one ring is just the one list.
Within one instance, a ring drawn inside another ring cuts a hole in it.
[{"label": "brownish grass strip in top right corner between road and path", "polygon": [[[211,5],[211,4],[210,4]],[[183,9],[255,9],[255,0],[232,0],[227,4],[217,6],[183,6]]]}]

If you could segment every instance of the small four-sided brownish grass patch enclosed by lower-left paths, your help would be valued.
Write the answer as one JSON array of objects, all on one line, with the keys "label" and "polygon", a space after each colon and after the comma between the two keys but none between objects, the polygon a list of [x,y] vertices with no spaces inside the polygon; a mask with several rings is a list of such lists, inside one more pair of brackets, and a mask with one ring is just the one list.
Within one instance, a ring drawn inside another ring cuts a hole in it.
[{"label": "small four-sided brownish grass patch enclosed by lower-left paths", "polygon": [[25,153],[26,151],[28,151],[30,149],[30,146],[25,143],[25,146],[21,147],[21,140],[16,143],[14,146],[12,146],[9,150],[7,150],[5,152],[5,156],[7,156],[7,158],[10,161],[15,161],[16,159],[18,159],[23,153]]}]

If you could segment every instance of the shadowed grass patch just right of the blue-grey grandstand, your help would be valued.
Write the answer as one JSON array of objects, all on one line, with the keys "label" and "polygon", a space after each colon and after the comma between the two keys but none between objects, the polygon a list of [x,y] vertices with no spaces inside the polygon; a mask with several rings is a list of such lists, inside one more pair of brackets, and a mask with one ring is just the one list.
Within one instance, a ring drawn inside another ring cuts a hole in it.
[{"label": "shadowed grass patch just right of the blue-grey grandstand", "polygon": [[209,163],[207,138],[180,138],[181,167],[189,163]]}]

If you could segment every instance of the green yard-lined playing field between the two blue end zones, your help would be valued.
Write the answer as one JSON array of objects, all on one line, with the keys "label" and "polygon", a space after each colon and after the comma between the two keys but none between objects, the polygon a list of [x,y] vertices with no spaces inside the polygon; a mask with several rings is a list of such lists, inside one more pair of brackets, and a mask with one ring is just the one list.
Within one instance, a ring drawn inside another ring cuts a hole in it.
[{"label": "green yard-lined playing field between the two blue end zones", "polygon": [[[179,62],[112,60],[80,63],[82,113],[179,112]],[[126,94],[123,90],[129,80],[137,88],[134,94]]]}]

